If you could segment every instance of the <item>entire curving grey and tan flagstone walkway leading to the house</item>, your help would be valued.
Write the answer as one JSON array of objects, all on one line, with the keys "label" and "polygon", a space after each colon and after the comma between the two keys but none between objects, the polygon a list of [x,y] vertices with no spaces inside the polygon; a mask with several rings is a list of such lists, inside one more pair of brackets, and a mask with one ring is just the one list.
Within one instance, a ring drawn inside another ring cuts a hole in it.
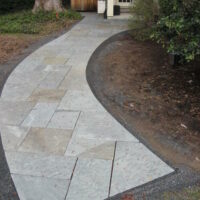
[{"label": "entire curving grey and tan flagstone walkway leading to the house", "polygon": [[21,200],[103,200],[173,171],[91,92],[91,54],[127,27],[85,15],[22,61],[4,86],[0,131]]}]

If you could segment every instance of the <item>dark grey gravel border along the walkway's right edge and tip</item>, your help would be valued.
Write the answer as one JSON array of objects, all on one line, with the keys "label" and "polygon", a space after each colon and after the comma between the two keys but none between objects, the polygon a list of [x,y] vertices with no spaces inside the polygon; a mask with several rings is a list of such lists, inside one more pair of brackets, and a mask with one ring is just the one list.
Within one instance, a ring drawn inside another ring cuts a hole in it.
[{"label": "dark grey gravel border along the walkway's right edge and tip", "polygon": [[[101,104],[104,106],[104,108],[122,125],[124,126],[130,133],[132,133],[141,143],[143,143],[147,148],[149,148],[153,153],[155,153],[158,157],[160,157],[165,163],[170,165],[175,171],[169,175],[166,175],[164,177],[158,178],[156,180],[153,180],[147,184],[144,184],[142,186],[132,188],[128,191],[125,191],[121,194],[118,194],[112,198],[112,200],[120,200],[125,195],[133,195],[136,198],[143,198],[143,195],[146,194],[150,199],[155,199],[159,197],[159,195],[168,189],[175,189],[175,188],[181,188],[184,186],[196,184],[200,180],[200,174],[185,167],[185,166],[175,166],[170,160],[166,160],[162,157],[162,155],[155,151],[150,145],[148,145],[147,141],[145,141],[129,124],[126,124],[123,119],[118,117],[113,110],[109,106],[109,99],[107,99],[105,96],[102,95],[102,89],[100,84],[98,83],[99,74],[98,71],[100,70],[100,67],[98,65],[97,59],[99,56],[101,56],[101,53],[104,51],[105,47],[107,47],[109,44],[111,44],[114,41],[117,41],[120,36],[128,34],[129,31],[124,31],[121,33],[118,33],[106,41],[104,41],[92,54],[90,57],[90,60],[88,62],[88,66],[86,69],[86,78],[88,81],[88,84],[95,95],[95,97],[101,102]],[[101,94],[101,95],[100,95]]]}]

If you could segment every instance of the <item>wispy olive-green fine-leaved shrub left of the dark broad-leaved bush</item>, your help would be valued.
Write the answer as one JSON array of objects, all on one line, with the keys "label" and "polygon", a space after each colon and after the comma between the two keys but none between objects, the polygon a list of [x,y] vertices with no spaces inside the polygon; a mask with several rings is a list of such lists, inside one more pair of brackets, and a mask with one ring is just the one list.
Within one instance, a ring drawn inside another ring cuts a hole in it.
[{"label": "wispy olive-green fine-leaved shrub left of the dark broad-leaved bush", "polygon": [[156,0],[134,0],[131,14],[129,26],[133,29],[133,36],[139,40],[149,39],[152,25],[155,24],[159,14],[158,2]]}]

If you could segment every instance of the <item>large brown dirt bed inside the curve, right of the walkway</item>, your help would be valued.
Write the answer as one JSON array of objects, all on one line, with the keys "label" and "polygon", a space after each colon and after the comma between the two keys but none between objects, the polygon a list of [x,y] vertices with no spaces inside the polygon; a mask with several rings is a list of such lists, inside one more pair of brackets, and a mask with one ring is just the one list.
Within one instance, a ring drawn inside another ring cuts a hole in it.
[{"label": "large brown dirt bed inside the curve, right of the walkway", "polygon": [[200,63],[168,60],[157,44],[123,36],[101,61],[103,93],[165,160],[200,170]]}]

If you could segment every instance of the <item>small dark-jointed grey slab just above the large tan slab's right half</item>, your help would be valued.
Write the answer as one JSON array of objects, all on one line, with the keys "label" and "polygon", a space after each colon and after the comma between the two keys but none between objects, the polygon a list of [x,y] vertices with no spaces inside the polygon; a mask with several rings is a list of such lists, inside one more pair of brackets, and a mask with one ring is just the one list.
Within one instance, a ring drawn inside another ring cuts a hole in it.
[{"label": "small dark-jointed grey slab just above the large tan slab's right half", "polygon": [[57,110],[49,122],[48,128],[74,129],[78,117],[79,112]]}]

